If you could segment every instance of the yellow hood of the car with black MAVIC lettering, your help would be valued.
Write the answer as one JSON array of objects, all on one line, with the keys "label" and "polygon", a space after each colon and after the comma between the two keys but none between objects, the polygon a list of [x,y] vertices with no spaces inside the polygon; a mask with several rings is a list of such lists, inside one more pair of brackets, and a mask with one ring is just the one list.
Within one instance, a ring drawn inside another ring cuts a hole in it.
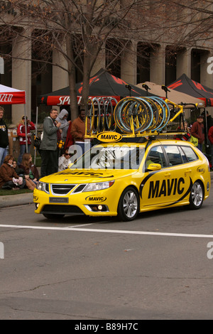
[{"label": "yellow hood of the car with black MAVIC lettering", "polygon": [[137,173],[137,170],[120,169],[65,169],[58,173],[40,178],[45,183],[98,183],[115,180],[118,178],[131,176]]}]

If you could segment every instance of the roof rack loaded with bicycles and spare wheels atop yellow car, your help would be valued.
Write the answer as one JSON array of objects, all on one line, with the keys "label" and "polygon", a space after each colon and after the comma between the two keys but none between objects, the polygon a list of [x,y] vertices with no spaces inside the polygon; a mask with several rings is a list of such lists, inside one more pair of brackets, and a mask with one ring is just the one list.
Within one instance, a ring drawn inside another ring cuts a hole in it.
[{"label": "roof rack loaded with bicycles and spare wheels atop yellow car", "polygon": [[[197,104],[176,104],[160,97],[94,97],[87,102],[85,138],[174,136],[185,134],[185,108],[197,109]],[[168,126],[180,116],[183,130],[170,131]],[[110,133],[107,135],[107,133]]]}]

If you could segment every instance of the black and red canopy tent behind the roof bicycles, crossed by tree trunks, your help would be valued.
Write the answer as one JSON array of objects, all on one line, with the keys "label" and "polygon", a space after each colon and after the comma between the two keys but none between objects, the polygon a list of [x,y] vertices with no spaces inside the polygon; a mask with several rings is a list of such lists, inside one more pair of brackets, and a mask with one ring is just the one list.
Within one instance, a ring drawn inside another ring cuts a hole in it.
[{"label": "black and red canopy tent behind the roof bicycles, crossed by tree trunks", "polygon": [[[131,90],[129,90],[131,87]],[[82,96],[82,82],[76,84],[77,99],[80,102]],[[119,77],[111,75],[104,69],[99,70],[96,75],[89,80],[89,97],[114,97],[119,101],[126,96],[143,97],[153,96],[145,90],[130,85],[128,82],[121,80]],[[69,105],[70,89],[69,87],[38,96],[37,105]]]}]

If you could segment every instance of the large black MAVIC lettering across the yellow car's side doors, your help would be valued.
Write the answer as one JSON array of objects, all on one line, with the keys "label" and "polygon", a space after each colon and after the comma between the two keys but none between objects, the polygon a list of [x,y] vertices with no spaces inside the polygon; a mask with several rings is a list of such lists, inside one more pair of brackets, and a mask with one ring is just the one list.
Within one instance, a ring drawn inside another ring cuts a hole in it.
[{"label": "large black MAVIC lettering across the yellow car's side doors", "polygon": [[171,180],[163,180],[160,184],[160,181],[151,181],[149,184],[149,192],[148,198],[157,198],[160,196],[170,196],[171,193],[173,195],[181,195],[183,193],[184,187],[182,187],[182,183],[185,183],[183,178],[172,178]]}]

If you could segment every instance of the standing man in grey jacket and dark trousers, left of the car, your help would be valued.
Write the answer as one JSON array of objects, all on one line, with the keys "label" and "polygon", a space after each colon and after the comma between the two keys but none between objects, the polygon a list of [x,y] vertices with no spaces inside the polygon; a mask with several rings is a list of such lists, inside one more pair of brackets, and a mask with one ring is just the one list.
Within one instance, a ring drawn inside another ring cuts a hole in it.
[{"label": "standing man in grey jacket and dark trousers, left of the car", "polygon": [[58,151],[57,142],[58,136],[57,131],[59,130],[60,122],[55,122],[58,116],[57,109],[50,110],[50,116],[45,117],[43,122],[43,139],[40,144],[40,177],[56,173],[58,171]]}]

